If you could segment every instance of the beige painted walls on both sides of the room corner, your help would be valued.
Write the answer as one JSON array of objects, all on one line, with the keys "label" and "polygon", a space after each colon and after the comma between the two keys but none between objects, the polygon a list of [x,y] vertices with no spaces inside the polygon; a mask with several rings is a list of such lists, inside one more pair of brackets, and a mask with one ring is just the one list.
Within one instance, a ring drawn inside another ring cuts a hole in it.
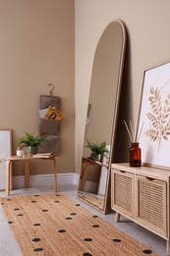
[{"label": "beige painted walls on both sides of the room corner", "polygon": [[[170,59],[169,9],[169,0],[0,0],[0,129],[13,129],[13,154],[25,130],[38,132],[39,95],[48,95],[52,83],[64,112],[58,169],[74,171],[76,156],[79,172],[93,54],[101,33],[116,19],[128,31],[117,136],[117,148],[124,149],[123,119],[137,122],[143,69]],[[31,170],[51,172],[40,163]],[[16,173],[23,173],[21,166]]]}]

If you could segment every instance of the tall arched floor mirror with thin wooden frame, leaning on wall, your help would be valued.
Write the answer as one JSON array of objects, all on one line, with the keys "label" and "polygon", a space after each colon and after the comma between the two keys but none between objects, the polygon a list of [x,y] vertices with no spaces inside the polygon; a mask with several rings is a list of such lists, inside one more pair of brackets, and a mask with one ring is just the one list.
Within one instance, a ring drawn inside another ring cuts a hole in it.
[{"label": "tall arched floor mirror with thin wooden frame, leaning on wall", "polygon": [[125,26],[120,20],[114,21],[101,34],[93,59],[84,146],[87,141],[105,143],[109,154],[94,160],[84,147],[78,197],[102,213],[106,213],[109,197],[125,46]]}]

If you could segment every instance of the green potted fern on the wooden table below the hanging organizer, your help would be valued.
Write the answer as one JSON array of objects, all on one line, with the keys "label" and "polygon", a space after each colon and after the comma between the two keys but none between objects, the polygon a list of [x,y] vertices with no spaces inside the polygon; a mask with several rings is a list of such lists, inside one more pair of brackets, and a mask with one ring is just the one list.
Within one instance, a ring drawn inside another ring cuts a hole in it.
[{"label": "green potted fern on the wooden table below the hanging organizer", "polygon": [[46,135],[35,136],[34,133],[25,132],[26,136],[19,139],[19,145],[24,145],[28,147],[28,154],[34,155],[38,153],[38,146],[46,141]]}]

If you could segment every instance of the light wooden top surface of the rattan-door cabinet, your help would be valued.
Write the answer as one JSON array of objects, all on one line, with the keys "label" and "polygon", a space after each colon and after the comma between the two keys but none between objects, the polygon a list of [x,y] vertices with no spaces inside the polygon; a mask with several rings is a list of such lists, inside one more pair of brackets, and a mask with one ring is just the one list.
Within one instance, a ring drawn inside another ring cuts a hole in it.
[{"label": "light wooden top surface of the rattan-door cabinet", "polygon": [[157,178],[170,177],[170,170],[145,165],[142,165],[141,167],[131,167],[129,162],[112,163],[112,168],[139,175],[153,175]]}]

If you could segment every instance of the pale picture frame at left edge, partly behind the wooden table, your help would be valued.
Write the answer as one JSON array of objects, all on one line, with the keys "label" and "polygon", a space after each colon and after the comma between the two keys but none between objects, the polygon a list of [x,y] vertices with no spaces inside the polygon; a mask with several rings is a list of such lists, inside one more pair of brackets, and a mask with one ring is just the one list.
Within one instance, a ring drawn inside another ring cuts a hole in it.
[{"label": "pale picture frame at left edge, partly behind the wooden table", "polygon": [[6,158],[12,155],[12,129],[0,129],[0,191],[5,190]]}]

